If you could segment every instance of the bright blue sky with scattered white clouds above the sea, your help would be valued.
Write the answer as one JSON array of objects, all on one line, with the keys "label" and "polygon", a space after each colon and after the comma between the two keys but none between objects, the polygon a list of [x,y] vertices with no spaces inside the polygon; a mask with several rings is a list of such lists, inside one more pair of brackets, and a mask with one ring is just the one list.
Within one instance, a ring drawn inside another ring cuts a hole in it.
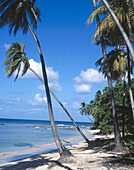
[{"label": "bright blue sky with scattered white clouds above the sea", "polygon": [[[89,103],[98,90],[107,86],[95,62],[102,57],[101,47],[92,41],[96,22],[87,25],[93,12],[90,0],[36,1],[41,22],[35,31],[42,47],[50,89],[77,122],[89,122],[80,115],[80,104]],[[11,43],[25,44],[30,67],[42,77],[37,45],[28,32],[9,35],[8,25],[0,29],[0,118],[49,120],[42,83],[28,71],[14,82],[7,78],[3,62]],[[51,96],[55,120],[70,121]]]}]

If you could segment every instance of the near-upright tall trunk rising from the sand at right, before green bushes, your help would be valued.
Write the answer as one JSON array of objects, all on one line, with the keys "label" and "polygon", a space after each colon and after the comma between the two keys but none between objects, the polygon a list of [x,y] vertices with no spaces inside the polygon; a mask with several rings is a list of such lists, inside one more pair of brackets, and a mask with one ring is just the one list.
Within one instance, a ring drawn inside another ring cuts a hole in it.
[{"label": "near-upright tall trunk rising from the sand at right, before green bushes", "polygon": [[[95,0],[92,0],[92,2],[93,2],[94,10],[96,10],[97,8],[96,8]],[[99,26],[100,19],[99,19],[98,15],[96,16],[96,21],[97,21],[97,25]],[[106,74],[107,74],[109,93],[110,93],[111,103],[112,103],[113,123],[114,123],[114,132],[115,132],[115,148],[117,150],[119,150],[120,148],[122,148],[122,143],[121,143],[121,135],[119,132],[119,126],[118,126],[118,121],[117,121],[117,115],[116,115],[116,111],[115,111],[115,101],[114,101],[114,94],[113,94],[112,78],[111,78],[111,73],[109,71],[109,66],[107,64],[106,47],[103,43],[102,37],[100,37],[100,42],[101,42],[103,57],[104,57],[105,64],[106,64]]]}]

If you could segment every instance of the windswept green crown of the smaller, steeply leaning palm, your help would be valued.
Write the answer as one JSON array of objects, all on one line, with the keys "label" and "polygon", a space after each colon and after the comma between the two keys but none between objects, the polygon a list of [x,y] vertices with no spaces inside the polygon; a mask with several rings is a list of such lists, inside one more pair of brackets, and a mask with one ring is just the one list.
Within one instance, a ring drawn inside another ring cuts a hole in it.
[{"label": "windswept green crown of the smaller, steeply leaning palm", "polygon": [[11,44],[6,54],[7,59],[4,61],[4,65],[6,66],[5,71],[7,72],[8,77],[13,75],[13,73],[17,71],[15,80],[19,76],[22,62],[23,62],[22,76],[26,74],[30,66],[28,58],[25,56],[26,53],[24,52],[24,47],[25,47],[24,44],[20,44],[18,42]]}]

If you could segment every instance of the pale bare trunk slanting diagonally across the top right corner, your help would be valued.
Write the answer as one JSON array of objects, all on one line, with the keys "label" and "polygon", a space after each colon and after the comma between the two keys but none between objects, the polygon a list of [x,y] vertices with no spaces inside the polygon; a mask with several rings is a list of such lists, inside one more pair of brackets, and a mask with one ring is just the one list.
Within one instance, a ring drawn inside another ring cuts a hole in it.
[{"label": "pale bare trunk slanting diagonally across the top right corner", "polygon": [[127,34],[125,33],[123,27],[121,26],[118,18],[117,18],[116,15],[114,14],[113,10],[110,8],[107,0],[102,0],[102,2],[103,2],[104,5],[106,6],[106,8],[108,9],[110,15],[112,16],[113,20],[115,21],[116,25],[118,26],[118,28],[119,28],[119,30],[120,30],[120,32],[121,32],[121,34],[122,34],[122,36],[123,36],[123,38],[124,38],[127,46],[128,46],[128,48],[129,48],[129,51],[130,51],[130,54],[131,54],[131,56],[132,56],[133,63],[134,63],[134,50],[133,50],[133,47],[132,47],[132,45],[131,45],[131,42],[129,41],[129,38],[128,38]]}]

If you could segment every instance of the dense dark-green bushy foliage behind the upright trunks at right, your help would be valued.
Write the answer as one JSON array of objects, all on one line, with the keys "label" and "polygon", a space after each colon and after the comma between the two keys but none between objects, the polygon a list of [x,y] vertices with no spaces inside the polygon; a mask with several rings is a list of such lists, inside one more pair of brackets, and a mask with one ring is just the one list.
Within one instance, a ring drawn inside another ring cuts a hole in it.
[{"label": "dense dark-green bushy foliage behind the upright trunks at right", "polygon": [[[128,86],[127,86],[128,89]],[[134,91],[134,85],[132,85]],[[116,83],[114,88],[115,105],[117,111],[117,119],[119,124],[119,129],[122,132],[124,114],[125,117],[125,133],[130,134],[132,132],[132,111],[130,107],[130,99],[128,91],[125,95],[125,101],[123,106],[123,84]],[[87,114],[92,115],[94,119],[93,127],[100,129],[101,132],[110,134],[114,132],[113,117],[112,117],[112,106],[110,100],[110,94],[108,87],[101,91],[97,91],[95,99],[92,100],[87,107]]]}]

